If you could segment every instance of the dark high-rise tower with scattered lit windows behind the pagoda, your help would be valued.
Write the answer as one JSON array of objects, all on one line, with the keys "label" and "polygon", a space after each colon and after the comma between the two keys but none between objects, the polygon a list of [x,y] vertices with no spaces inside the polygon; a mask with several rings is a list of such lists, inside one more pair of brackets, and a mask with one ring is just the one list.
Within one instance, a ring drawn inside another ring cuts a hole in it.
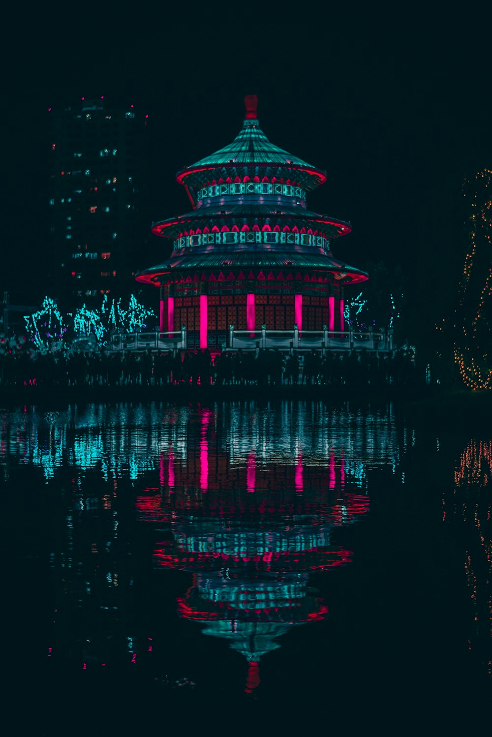
[{"label": "dark high-rise tower with scattered lit windows behind the pagoda", "polygon": [[148,116],[82,98],[49,109],[49,290],[66,304],[127,296],[142,222]]}]

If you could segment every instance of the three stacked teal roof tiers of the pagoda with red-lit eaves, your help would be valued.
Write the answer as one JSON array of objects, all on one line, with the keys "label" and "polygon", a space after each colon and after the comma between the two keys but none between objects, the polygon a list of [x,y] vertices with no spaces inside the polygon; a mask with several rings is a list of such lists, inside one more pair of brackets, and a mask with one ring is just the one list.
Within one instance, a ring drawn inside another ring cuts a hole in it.
[{"label": "three stacked teal roof tiers of the pagoda with red-lit eaves", "polygon": [[[306,192],[323,184],[326,172],[270,143],[255,95],[245,105],[234,141],[178,172],[193,209],[153,223],[154,234],[174,240],[172,254],[136,279],[163,286],[173,273],[193,271],[201,281],[209,276],[200,269],[230,267],[235,279],[256,278],[261,268],[301,268],[324,273],[323,281],[365,281],[365,272],[331,254],[331,239],[350,233],[350,223],[306,209]],[[256,272],[239,276],[245,268]]]}]

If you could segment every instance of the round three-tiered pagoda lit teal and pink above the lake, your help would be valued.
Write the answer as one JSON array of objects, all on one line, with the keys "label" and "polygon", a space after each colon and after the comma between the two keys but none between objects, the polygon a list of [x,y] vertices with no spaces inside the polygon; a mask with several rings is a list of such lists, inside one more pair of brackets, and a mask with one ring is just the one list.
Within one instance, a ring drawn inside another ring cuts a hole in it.
[{"label": "round three-tiered pagoda lit teal and pink above the lake", "polygon": [[306,207],[326,172],[270,143],[257,104],[245,97],[233,143],[178,172],[193,209],[153,224],[172,254],[136,276],[161,288],[161,331],[186,326],[189,347],[221,347],[230,325],[343,331],[344,287],[368,278],[331,253],[349,223]]}]

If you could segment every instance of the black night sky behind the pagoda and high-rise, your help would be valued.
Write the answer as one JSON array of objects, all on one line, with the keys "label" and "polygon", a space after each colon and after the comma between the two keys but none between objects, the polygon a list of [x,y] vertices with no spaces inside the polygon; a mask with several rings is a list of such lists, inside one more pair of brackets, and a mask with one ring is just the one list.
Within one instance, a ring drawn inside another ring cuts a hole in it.
[{"label": "black night sky behind the pagoda and high-rise", "polygon": [[231,142],[244,95],[258,94],[270,140],[328,172],[308,206],[351,222],[335,256],[437,270],[457,248],[450,222],[465,173],[491,167],[490,21],[478,4],[432,15],[350,3],[66,4],[29,9],[29,28],[19,13],[5,49],[0,289],[39,291],[47,108],[102,94],[150,116],[149,228],[189,209],[175,172]]}]

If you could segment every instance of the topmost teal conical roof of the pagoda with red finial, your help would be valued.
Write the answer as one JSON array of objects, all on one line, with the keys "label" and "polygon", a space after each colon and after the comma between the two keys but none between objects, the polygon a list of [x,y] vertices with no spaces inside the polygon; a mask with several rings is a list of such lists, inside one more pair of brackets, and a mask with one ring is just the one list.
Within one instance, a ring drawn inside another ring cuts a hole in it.
[{"label": "topmost teal conical roof of the pagoda with red finial", "polygon": [[[326,172],[270,143],[259,127],[257,105],[258,97],[247,95],[245,122],[239,135],[228,146],[178,172],[178,182],[188,188],[202,186],[211,178],[222,176],[224,181],[236,175],[242,178],[247,170],[251,178],[255,174],[260,177],[271,174],[277,179],[279,176],[295,179],[302,182],[305,189],[314,189],[323,184],[326,181]],[[265,171],[268,169],[270,172]],[[192,192],[191,196],[193,197]]]}]

